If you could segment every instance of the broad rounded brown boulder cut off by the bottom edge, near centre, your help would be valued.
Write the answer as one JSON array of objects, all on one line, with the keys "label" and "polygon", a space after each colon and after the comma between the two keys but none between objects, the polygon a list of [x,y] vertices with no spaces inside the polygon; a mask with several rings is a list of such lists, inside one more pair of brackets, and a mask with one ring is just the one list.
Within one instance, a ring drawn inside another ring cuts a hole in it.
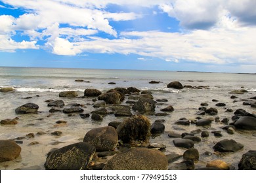
[{"label": "broad rounded brown boulder cut off by the bottom edge, near centre", "polygon": [[159,150],[132,148],[114,156],[104,170],[166,170],[167,158]]}]

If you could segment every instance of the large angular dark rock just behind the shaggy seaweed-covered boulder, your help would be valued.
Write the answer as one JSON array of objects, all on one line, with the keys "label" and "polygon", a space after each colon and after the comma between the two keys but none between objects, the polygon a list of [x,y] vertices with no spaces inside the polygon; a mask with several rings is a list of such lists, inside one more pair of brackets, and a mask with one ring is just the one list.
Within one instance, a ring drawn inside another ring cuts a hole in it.
[{"label": "large angular dark rock just behind the shaggy seaweed-covered boulder", "polygon": [[142,114],[152,114],[156,108],[156,101],[140,98],[132,108],[133,110],[138,110]]}]

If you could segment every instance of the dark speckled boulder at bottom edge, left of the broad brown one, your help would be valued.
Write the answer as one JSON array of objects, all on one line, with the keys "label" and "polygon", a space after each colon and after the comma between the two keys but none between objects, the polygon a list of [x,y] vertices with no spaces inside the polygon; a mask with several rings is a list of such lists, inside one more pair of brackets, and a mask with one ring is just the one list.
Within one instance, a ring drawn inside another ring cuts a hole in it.
[{"label": "dark speckled boulder at bottom edge, left of the broad brown one", "polygon": [[87,142],[78,142],[50,152],[45,169],[85,170],[93,159],[95,147]]}]

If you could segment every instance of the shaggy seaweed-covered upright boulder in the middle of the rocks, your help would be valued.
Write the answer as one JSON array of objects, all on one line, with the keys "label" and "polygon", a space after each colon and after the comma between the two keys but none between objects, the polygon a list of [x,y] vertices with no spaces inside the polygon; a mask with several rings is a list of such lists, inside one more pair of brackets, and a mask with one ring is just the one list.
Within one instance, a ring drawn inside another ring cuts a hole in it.
[{"label": "shaggy seaweed-covered upright boulder in the middle of the rocks", "polygon": [[150,138],[150,121],[146,116],[134,115],[118,125],[117,134],[124,143],[134,141],[148,142]]}]

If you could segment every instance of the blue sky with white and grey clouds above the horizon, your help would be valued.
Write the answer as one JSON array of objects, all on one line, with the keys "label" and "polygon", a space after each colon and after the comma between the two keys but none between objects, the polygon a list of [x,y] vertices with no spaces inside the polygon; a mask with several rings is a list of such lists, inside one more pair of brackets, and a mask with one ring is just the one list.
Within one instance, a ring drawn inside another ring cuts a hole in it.
[{"label": "blue sky with white and grey clouds above the horizon", "polygon": [[255,0],[0,0],[0,66],[256,73]]}]

